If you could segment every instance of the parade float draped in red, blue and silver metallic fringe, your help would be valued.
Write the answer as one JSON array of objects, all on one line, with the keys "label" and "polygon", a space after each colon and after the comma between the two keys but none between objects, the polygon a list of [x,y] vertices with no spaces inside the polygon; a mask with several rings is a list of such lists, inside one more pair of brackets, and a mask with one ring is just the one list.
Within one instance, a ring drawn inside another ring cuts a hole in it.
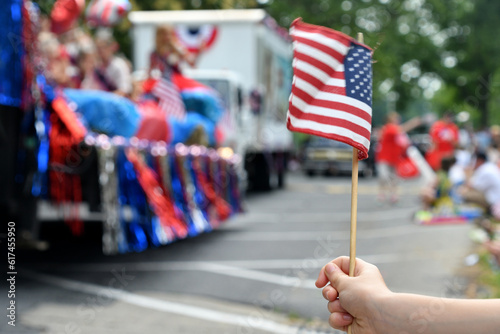
[{"label": "parade float draped in red, blue and silver metallic fringe", "polygon": [[[171,75],[185,111],[172,117],[155,95],[162,78],[141,81],[133,99],[61,87],[46,75],[38,6],[8,0],[0,9],[0,108],[10,129],[1,205],[25,238],[37,239],[45,220],[64,221],[77,236],[96,221],[105,254],[138,252],[211,231],[242,211],[241,159],[221,146],[227,110],[217,92]],[[112,26],[129,9],[127,1],[94,0],[86,10],[84,1],[57,1],[51,29],[64,33],[83,13],[92,27]]]}]

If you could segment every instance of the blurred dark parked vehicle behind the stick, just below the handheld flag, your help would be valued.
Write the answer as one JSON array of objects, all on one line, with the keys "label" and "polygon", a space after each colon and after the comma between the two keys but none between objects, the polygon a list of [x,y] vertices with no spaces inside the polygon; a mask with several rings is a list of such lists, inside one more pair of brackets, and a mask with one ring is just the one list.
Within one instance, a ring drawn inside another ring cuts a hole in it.
[{"label": "blurred dark parked vehicle behind the stick, just below the handheld flag", "polygon": [[[373,159],[373,154],[370,159]],[[360,176],[373,175],[374,166],[371,162],[369,159],[359,161]],[[303,151],[302,170],[309,176],[351,174],[352,147],[339,141],[312,136]]]}]

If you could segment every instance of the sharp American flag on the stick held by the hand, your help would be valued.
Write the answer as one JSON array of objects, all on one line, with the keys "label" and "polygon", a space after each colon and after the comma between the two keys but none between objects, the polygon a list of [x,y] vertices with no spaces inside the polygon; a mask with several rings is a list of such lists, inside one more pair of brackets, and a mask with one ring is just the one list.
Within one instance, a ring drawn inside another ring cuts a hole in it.
[{"label": "sharp American flag on the stick held by the hand", "polygon": [[296,19],[287,127],[347,143],[368,157],[372,119],[371,49],[332,29]]}]

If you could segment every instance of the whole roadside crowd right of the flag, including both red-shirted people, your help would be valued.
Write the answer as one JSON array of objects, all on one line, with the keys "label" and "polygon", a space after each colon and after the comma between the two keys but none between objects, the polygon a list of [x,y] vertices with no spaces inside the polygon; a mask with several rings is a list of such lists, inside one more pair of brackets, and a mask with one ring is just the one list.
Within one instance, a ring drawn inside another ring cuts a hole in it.
[{"label": "whole roadside crowd right of the flag, including both red-shirted people", "polygon": [[425,217],[456,215],[460,207],[478,208],[483,213],[476,223],[490,227],[485,246],[500,265],[500,240],[496,240],[500,235],[500,126],[475,132],[470,122],[460,120],[452,112],[433,122],[421,117],[403,124],[400,120],[398,113],[389,113],[386,124],[377,133],[378,201],[396,204],[398,180],[405,177],[404,173],[415,175],[405,171],[411,145],[407,133],[427,125],[430,147],[423,157],[427,166],[414,166],[416,174],[423,167],[432,168],[435,173],[421,191]]}]

